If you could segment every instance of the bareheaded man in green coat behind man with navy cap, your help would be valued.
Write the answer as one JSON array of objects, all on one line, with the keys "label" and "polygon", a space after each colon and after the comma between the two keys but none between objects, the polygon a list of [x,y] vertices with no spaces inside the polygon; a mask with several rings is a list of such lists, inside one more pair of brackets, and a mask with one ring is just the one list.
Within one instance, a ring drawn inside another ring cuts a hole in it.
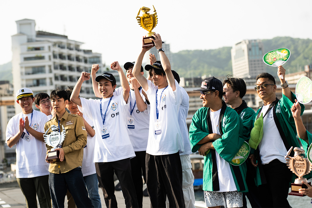
[{"label": "bareheaded man in green coat behind man with navy cap", "polygon": [[[246,83],[241,78],[227,75],[227,79],[223,80],[224,101],[226,104],[230,105],[241,118],[244,127],[243,138],[248,142],[256,113],[252,108],[248,107],[245,100],[242,99],[246,94],[246,90]],[[255,185],[253,177],[256,174],[256,169],[249,161],[246,161],[246,165],[246,183],[248,186],[248,192],[243,193],[243,207],[247,207],[246,196],[252,207],[260,207],[260,201],[258,199],[259,191]]]}]

